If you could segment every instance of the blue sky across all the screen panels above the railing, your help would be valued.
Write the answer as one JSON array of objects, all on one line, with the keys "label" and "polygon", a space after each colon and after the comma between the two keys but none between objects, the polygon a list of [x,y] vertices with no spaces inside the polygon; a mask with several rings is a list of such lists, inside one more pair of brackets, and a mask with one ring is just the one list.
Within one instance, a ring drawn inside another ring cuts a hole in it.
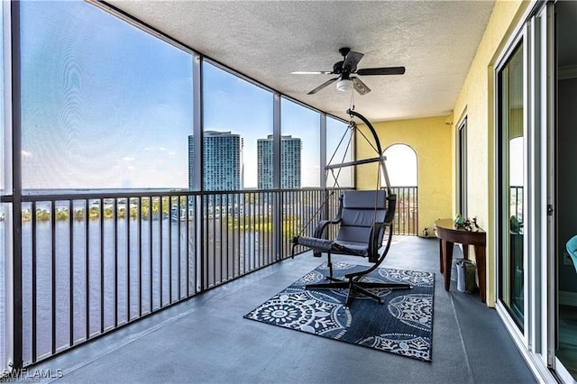
[{"label": "blue sky across all the screen panels above the railing", "polygon": [[[22,17],[23,187],[187,188],[192,57],[82,1],[25,1]],[[203,76],[204,128],[243,136],[243,184],[256,187],[272,94],[208,63]],[[282,134],[303,142],[303,187],[323,175],[319,122],[281,100]],[[328,119],[327,157],[345,130]]]}]

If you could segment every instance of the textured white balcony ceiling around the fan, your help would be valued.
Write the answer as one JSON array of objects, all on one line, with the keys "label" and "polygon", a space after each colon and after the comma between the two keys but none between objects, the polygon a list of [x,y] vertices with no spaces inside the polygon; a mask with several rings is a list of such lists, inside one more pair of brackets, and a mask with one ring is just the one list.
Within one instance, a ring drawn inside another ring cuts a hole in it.
[{"label": "textured white balcony ceiling around the fan", "polygon": [[405,66],[405,75],[364,76],[371,93],[354,95],[372,122],[451,113],[494,1],[151,1],[112,0],[188,47],[267,87],[345,117],[351,93],[334,85],[307,92],[332,75],[350,47],[358,68]]}]

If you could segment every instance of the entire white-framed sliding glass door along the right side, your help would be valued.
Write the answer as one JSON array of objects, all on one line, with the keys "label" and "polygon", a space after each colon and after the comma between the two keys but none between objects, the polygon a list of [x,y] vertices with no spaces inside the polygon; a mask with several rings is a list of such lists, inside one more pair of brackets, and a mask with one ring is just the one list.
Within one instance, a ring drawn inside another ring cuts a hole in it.
[{"label": "entire white-framed sliding glass door along the right side", "polygon": [[577,379],[577,2],[527,15],[495,70],[497,307],[545,381]]}]

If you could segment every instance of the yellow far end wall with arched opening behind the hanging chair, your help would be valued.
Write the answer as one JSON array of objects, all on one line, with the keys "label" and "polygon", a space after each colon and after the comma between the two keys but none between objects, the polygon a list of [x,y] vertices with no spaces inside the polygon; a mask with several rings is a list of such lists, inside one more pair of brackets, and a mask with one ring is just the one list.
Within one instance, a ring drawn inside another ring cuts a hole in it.
[{"label": "yellow far end wall with arched opening behind the hanging chair", "polygon": [[[372,123],[372,122],[371,122]],[[418,234],[429,229],[429,236],[435,236],[435,220],[451,217],[451,124],[447,116],[426,119],[401,120],[395,122],[372,123],[379,135],[380,145],[385,151],[393,144],[407,144],[417,153],[418,184]],[[367,128],[361,128],[365,135]],[[368,135],[370,137],[370,135]],[[357,138],[358,159],[374,158],[375,152],[361,137]],[[376,165],[366,165],[357,169],[357,187],[373,189],[377,186]]]}]

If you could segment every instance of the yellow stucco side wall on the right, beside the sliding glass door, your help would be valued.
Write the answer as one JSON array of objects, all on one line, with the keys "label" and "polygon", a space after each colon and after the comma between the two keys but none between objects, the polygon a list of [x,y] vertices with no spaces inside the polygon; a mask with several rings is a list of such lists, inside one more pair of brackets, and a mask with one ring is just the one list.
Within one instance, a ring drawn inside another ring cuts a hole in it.
[{"label": "yellow stucco side wall on the right, beside the sliding glass door", "polygon": [[[455,153],[454,129],[467,116],[467,182],[469,216],[477,216],[479,224],[487,231],[487,304],[495,300],[495,135],[494,135],[494,67],[517,27],[528,2],[497,1],[463,88],[453,107],[453,153]],[[455,162],[453,161],[453,174]],[[453,215],[455,213],[456,186],[453,182]],[[471,250],[472,251],[472,250]],[[472,254],[472,252],[471,252]]]}]

